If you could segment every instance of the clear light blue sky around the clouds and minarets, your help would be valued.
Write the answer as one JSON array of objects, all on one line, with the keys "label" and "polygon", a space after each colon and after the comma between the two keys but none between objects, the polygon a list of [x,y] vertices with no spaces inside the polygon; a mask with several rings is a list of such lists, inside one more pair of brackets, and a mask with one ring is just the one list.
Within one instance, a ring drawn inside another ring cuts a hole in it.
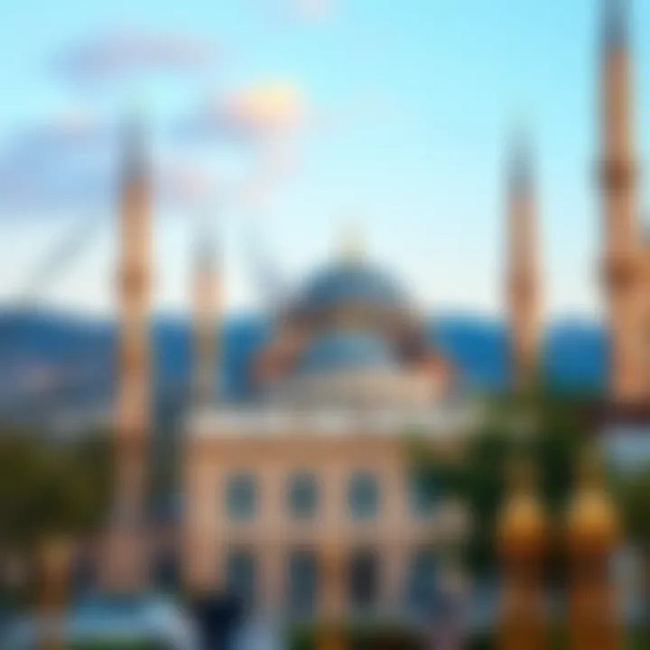
[{"label": "clear light blue sky around the clouds and minarets", "polygon": [[[156,213],[156,309],[187,308],[191,241],[198,215],[209,213],[225,238],[231,311],[262,304],[251,232],[278,274],[296,283],[327,261],[353,222],[367,255],[392,269],[423,309],[498,313],[506,154],[525,128],[536,155],[546,312],[598,313],[599,0],[12,5],[0,28],[3,152],[53,117],[115,123],[137,102],[151,122],[156,155],[218,178],[218,208],[191,203]],[[650,38],[643,39],[650,5],[633,5],[643,163],[650,66],[641,62],[650,60]],[[97,75],[91,83],[80,83],[63,64],[70,52],[124,29],[200,42],[209,61],[196,69]],[[270,156],[266,142],[251,145],[227,134],[190,142],[178,135],[177,126],[200,107],[229,106],[229,98],[250,88],[283,88],[295,105],[276,129],[282,133],[273,135]],[[280,172],[268,172],[269,165]],[[261,173],[268,176],[263,200],[251,207],[229,184],[236,178],[255,185]],[[641,197],[650,208],[645,188]],[[5,209],[0,298],[10,300],[55,242],[80,219],[93,218],[97,231],[43,287],[42,302],[110,311],[113,212],[106,200],[57,214]]]}]

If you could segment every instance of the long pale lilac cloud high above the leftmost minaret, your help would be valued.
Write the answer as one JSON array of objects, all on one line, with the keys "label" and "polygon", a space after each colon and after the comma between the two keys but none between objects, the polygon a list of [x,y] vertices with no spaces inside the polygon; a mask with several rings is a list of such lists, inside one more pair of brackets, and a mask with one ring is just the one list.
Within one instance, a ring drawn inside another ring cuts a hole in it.
[{"label": "long pale lilac cloud high above the leftmost minaret", "polygon": [[150,72],[191,72],[209,67],[214,48],[190,34],[116,29],[64,52],[63,72],[75,81],[97,82]]}]

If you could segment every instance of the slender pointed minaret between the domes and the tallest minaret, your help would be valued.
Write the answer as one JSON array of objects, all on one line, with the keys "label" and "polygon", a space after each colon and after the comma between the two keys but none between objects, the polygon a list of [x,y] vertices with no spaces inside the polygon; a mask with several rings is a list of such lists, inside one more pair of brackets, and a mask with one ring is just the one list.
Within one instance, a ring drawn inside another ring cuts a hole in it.
[{"label": "slender pointed minaret between the domes and the tallest minaret", "polygon": [[511,383],[534,385],[540,345],[540,287],[533,172],[525,142],[515,145],[508,189],[507,310]]}]

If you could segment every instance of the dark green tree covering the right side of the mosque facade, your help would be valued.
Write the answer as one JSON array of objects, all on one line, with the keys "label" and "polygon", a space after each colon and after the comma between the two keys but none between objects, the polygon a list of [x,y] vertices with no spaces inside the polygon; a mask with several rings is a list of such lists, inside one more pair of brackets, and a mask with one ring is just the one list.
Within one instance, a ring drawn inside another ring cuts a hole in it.
[{"label": "dark green tree covering the right side of the mosque facade", "polygon": [[[541,497],[553,515],[562,512],[573,482],[573,469],[586,438],[585,399],[548,391],[497,395],[486,407],[478,429],[471,432],[462,457],[425,456],[416,467],[432,489],[458,497],[472,517],[472,534],[462,549],[465,564],[477,577],[497,568],[495,530],[503,506],[506,466],[515,456],[534,461]],[[560,561],[552,558],[552,566]]]}]

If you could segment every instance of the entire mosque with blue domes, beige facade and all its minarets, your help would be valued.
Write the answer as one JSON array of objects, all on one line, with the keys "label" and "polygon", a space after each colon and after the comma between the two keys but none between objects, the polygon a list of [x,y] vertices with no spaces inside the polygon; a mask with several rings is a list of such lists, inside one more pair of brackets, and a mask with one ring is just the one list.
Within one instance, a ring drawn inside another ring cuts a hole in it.
[{"label": "entire mosque with blue domes, beige facade and all its minarets", "polygon": [[[626,401],[645,390],[642,361],[625,344],[629,332],[641,331],[643,265],[635,262],[631,225],[625,16],[620,3],[606,5],[602,183],[611,395]],[[525,389],[535,381],[541,279],[534,175],[522,144],[506,187],[510,366],[513,385]],[[144,150],[135,138],[126,153],[120,225],[116,515],[105,572],[107,586],[125,590],[146,582],[143,554],[152,552],[141,527],[151,214]],[[193,405],[175,541],[186,589],[233,592],[250,608],[277,615],[398,613],[430,601],[436,543],[460,539],[468,521],[418,481],[413,450],[461,452],[480,413],[463,377],[432,345],[423,311],[381,265],[348,246],[274,315],[248,367],[254,399],[228,404],[215,385],[223,271],[203,242],[193,275]]]}]

